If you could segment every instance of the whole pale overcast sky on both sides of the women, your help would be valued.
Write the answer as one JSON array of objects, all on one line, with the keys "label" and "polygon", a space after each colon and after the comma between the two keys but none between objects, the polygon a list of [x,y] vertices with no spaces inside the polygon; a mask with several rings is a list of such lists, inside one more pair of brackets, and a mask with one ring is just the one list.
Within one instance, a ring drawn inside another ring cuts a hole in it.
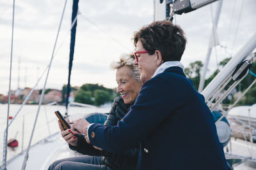
[{"label": "whole pale overcast sky on both sides of the women", "polygon": [[[122,53],[134,49],[131,41],[134,31],[153,21],[153,2],[79,2],[72,86],[99,83],[109,88],[116,87],[115,71],[109,68],[109,64]],[[20,88],[33,87],[49,64],[64,3],[64,0],[15,1],[13,90],[17,89],[18,80]],[[216,4],[179,15],[173,20],[184,29],[188,38],[181,61],[185,67],[190,62],[205,60]],[[223,1],[218,37],[220,45],[227,48],[217,46],[216,50],[212,50],[208,76],[217,68],[216,61],[234,55],[256,31],[255,9],[255,0]],[[63,84],[67,84],[71,13],[72,1],[68,0],[47,88],[61,89]],[[8,93],[11,38],[12,1],[0,0],[0,94]],[[44,82],[40,82],[38,89],[42,89],[43,85]]]}]

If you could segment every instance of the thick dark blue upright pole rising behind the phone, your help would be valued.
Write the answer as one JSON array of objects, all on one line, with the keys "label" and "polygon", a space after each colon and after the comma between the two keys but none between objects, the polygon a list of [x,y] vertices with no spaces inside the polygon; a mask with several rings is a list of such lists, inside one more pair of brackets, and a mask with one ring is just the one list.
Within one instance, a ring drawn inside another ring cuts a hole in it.
[{"label": "thick dark blue upright pole rising behind the phone", "polygon": [[74,58],[74,48],[76,42],[76,25],[77,25],[77,10],[78,10],[78,2],[79,0],[73,0],[73,7],[72,7],[72,24],[74,25],[71,29],[71,36],[70,36],[70,52],[69,52],[69,64],[68,64],[68,85],[67,85],[67,98],[66,98],[66,117],[68,116],[68,98],[70,94],[70,75],[72,70],[72,63]]}]

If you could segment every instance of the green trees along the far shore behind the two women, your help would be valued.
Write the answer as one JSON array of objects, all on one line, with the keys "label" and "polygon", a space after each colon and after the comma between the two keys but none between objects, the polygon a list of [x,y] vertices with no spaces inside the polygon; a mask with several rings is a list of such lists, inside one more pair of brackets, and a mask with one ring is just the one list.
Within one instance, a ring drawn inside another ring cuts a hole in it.
[{"label": "green trees along the far shore behind the two women", "polygon": [[[218,66],[223,68],[231,58],[227,58],[218,63]],[[184,73],[186,76],[193,82],[193,86],[195,89],[198,89],[199,81],[200,81],[200,73],[204,64],[201,61],[197,60],[195,62],[191,62],[188,67],[184,69]],[[250,69],[253,73],[256,73],[255,64],[252,65]],[[220,72],[219,69],[216,69],[209,78],[205,79],[206,87],[212,79]],[[252,83],[255,77],[248,73],[241,83],[236,87],[236,92],[244,92],[247,87]],[[233,80],[232,80],[233,81]],[[226,90],[230,85],[232,85],[232,81],[225,88]],[[105,103],[111,103],[115,99],[118,94],[116,94],[115,89],[108,89],[103,85],[98,84],[90,84],[86,83],[81,87],[71,87],[71,91],[75,92],[74,101],[77,103],[84,104],[93,104],[93,105],[101,105]],[[65,97],[67,93],[67,85],[63,85],[62,87],[62,103],[65,103]],[[223,104],[232,104],[236,101],[236,97],[230,94],[226,99],[223,100]],[[245,96],[239,101],[239,105],[251,105],[256,103],[256,85],[253,85],[252,89],[250,89]]]}]

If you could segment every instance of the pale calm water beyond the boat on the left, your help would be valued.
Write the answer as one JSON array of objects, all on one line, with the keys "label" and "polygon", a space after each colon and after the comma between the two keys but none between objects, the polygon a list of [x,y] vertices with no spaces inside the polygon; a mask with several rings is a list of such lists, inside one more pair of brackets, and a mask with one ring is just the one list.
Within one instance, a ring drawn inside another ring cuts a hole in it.
[{"label": "pale calm water beyond the boat on the left", "polygon": [[[10,116],[14,117],[20,108],[20,104],[10,105]],[[2,164],[3,160],[3,134],[4,129],[6,129],[6,117],[7,117],[8,104],[0,104],[0,162]],[[99,112],[108,113],[111,108],[110,104],[104,105],[100,108],[84,108],[79,106],[71,106],[69,109],[70,121],[76,120],[77,118],[83,117],[88,113]],[[19,141],[19,146],[17,148],[7,148],[7,160],[22,152],[26,149],[29,144],[29,139],[31,137],[31,132],[36,118],[36,112],[38,105],[26,104],[23,106],[19,115],[13,120],[12,125],[8,129],[8,139],[16,138]],[[46,138],[47,136],[60,132],[58,127],[58,118],[56,117],[54,111],[59,110],[63,115],[65,114],[65,106],[53,105],[46,106],[42,105],[40,108],[40,113],[36,122],[35,132],[33,134],[33,139],[31,145],[37,143],[38,141]],[[48,123],[47,123],[48,122]],[[10,123],[10,120],[9,120]],[[24,128],[23,128],[24,124]],[[22,141],[22,131],[24,131],[24,140]],[[22,146],[23,144],[23,146]]]}]

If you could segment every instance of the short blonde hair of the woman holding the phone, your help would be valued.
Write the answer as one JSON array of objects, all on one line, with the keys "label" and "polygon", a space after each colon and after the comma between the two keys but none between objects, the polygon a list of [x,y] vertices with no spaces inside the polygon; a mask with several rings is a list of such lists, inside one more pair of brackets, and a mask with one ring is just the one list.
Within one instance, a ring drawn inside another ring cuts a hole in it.
[{"label": "short blonde hair of the woman holding the phone", "polygon": [[111,69],[118,69],[120,67],[128,66],[131,68],[131,76],[136,80],[137,82],[141,82],[140,80],[140,69],[138,65],[134,65],[134,53],[122,53],[119,57],[119,61],[112,62],[110,64]]}]

